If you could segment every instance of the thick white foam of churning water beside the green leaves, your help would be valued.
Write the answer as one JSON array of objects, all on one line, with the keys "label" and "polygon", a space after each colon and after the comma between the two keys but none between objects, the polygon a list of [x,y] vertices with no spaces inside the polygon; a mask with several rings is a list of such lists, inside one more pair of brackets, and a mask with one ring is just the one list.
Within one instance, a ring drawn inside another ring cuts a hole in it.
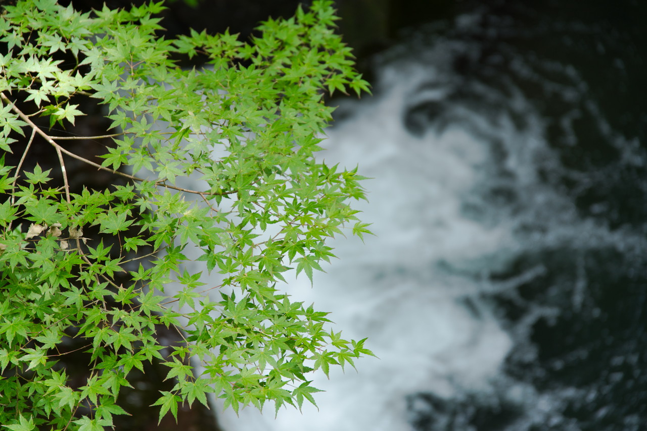
[{"label": "thick white foam of churning water beside the green leaves", "polygon": [[[303,280],[287,288],[296,299],[332,311],[346,338],[369,337],[379,359],[356,361],[358,372],[335,370],[329,380],[314,375],[314,386],[326,391],[316,394],[319,411],[289,408],[276,419],[273,411],[245,409],[240,417],[225,412],[220,423],[226,431],[407,430],[406,395],[487,391],[509,352],[509,335],[478,299],[483,286],[471,275],[440,268],[505,259],[520,247],[510,224],[486,226],[461,210],[463,197],[483,176],[488,145],[458,124],[412,136],[402,112],[430,71],[387,72],[397,78],[382,86],[389,90],[357,103],[351,120],[329,130],[322,152],[329,163],[360,163],[360,173],[374,178],[366,182],[369,204],[356,207],[377,237],[366,237],[366,244],[336,240],[340,260],[316,275],[314,288]],[[443,92],[427,97],[442,98]]]}]

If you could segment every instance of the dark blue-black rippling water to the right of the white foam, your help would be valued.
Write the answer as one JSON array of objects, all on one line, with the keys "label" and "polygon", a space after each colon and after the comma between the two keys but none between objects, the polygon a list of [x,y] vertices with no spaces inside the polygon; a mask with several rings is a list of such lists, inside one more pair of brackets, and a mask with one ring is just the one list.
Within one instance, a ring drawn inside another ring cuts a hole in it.
[{"label": "dark blue-black rippling water to the right of the white foam", "polygon": [[[564,17],[510,7],[508,14],[485,12],[468,28],[412,35],[422,46],[443,38],[477,46],[452,58],[455,79],[464,81],[455,101],[487,116],[505,107],[488,103],[476,87],[486,85],[495,96],[510,85],[520,90],[542,119],[556,155],[536,160],[538,178],[573,202],[580,223],[595,221],[590,229],[569,232],[573,220],[566,220],[564,237],[549,244],[540,240],[539,247],[487,276],[496,284],[545,268],[515,289],[485,295],[513,334],[503,384],[511,378],[531,385],[537,394],[527,400],[532,405],[483,405],[477,394],[455,402],[421,393],[410,398],[415,429],[647,427],[647,111],[640,72],[646,53],[645,32],[634,21],[644,7],[597,8],[578,8],[572,19],[568,11]],[[438,109],[414,107],[405,123],[420,132],[438,121]],[[514,187],[483,193],[502,201],[501,213],[528,207],[528,197],[516,195]],[[538,215],[519,226],[517,235],[554,235],[560,215]],[[547,406],[535,405],[544,397]]]}]

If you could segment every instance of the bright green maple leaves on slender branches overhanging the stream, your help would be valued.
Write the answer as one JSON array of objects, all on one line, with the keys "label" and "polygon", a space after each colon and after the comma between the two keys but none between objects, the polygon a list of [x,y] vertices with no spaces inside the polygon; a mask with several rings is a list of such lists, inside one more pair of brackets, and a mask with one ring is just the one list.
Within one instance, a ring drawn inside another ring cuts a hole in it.
[{"label": "bright green maple leaves on slender branches overhanging the stream", "polygon": [[[5,428],[112,425],[112,415],[125,413],[116,397],[129,372],[161,359],[162,349],[177,384],[160,394],[160,418],[176,414],[181,402],[206,405],[209,393],[236,411],[266,401],[276,409],[314,403],[309,373],[354,366],[370,354],[363,340],[329,330],[327,313],[292,302],[277,286],[291,269],[312,280],[333,257],[326,240],[342,229],[368,233],[349,207],[364,198],[362,177],[314,158],[331,120],[324,92],[367,89],[334,34],[331,1],[267,21],[248,42],[204,32],[166,40],[155,18],[162,8],[82,14],[54,0],[28,0],[0,17],[7,47],[0,54],[0,148],[22,154],[16,166],[0,159]],[[171,60],[196,53],[212,67],[182,70]],[[89,137],[112,140],[102,163],[69,151],[73,136],[52,136],[36,121],[74,124],[83,113],[73,102],[87,96],[105,103],[112,121],[113,134]],[[51,170],[23,168],[35,136],[58,154],[62,187],[51,185]],[[72,193],[68,158],[127,182]],[[204,187],[180,187],[188,176]],[[120,249],[83,238],[93,227]],[[182,269],[186,247],[200,250],[199,260],[220,274],[219,286],[205,288],[200,273]],[[165,298],[171,282],[181,288]],[[182,322],[187,344],[164,346],[156,337],[157,326]],[[76,386],[58,362],[70,334],[91,353],[90,377]],[[201,375],[188,357],[203,363]]]}]

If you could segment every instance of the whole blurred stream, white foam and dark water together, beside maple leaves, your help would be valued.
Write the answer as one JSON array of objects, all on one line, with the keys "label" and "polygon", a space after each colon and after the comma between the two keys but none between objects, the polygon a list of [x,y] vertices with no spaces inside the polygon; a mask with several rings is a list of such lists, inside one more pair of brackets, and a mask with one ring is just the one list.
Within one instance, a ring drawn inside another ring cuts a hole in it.
[{"label": "whole blurred stream, white foam and dark water together, beside maple leaves", "polygon": [[[477,9],[375,59],[375,96],[341,102],[321,157],[373,178],[377,236],[287,289],[378,359],[316,375],[319,410],[223,429],[647,429],[646,119],[620,103],[633,48],[602,30]],[[549,36],[569,48],[542,55]]]}]

